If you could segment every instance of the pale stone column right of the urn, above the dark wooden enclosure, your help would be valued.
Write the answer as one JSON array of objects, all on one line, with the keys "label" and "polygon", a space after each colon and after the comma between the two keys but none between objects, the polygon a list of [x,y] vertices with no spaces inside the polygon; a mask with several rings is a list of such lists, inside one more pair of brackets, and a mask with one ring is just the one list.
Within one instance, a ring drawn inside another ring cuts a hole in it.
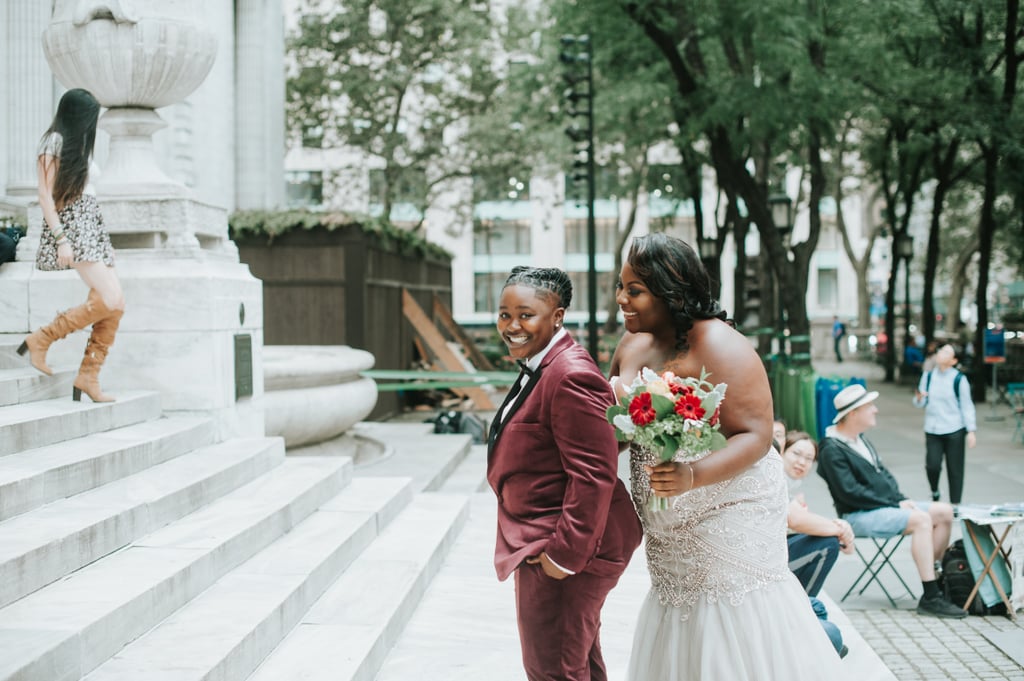
[{"label": "pale stone column right of the urn, above the dark wooden enclosure", "polygon": [[236,3],[236,207],[284,204],[285,29],[281,0]]}]

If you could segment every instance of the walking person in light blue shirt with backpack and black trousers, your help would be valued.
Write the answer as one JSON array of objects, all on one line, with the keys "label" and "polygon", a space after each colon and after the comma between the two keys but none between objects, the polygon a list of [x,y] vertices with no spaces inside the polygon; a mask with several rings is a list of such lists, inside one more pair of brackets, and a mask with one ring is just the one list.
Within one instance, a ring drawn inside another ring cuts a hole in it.
[{"label": "walking person in light blue shirt with backpack and black trousers", "polygon": [[964,492],[966,449],[977,444],[977,415],[971,385],[956,369],[956,350],[948,343],[935,351],[935,368],[925,372],[913,396],[925,410],[925,471],[932,500],[939,500],[939,476],[946,460],[949,503],[959,504]]}]

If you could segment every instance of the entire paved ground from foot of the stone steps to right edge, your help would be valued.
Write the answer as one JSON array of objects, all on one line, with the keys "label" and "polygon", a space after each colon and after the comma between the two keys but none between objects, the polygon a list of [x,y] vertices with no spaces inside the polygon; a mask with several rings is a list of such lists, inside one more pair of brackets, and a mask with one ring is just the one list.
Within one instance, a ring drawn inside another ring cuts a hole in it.
[{"label": "entire paved ground from foot of the stone steps to right edge", "polygon": [[[865,378],[869,389],[879,390],[879,426],[869,437],[904,493],[913,499],[929,498],[924,415],[910,403],[911,388],[883,383],[884,373],[878,365],[816,361],[815,369],[819,375]],[[965,502],[1022,501],[1024,445],[1011,442],[1014,420],[1006,407],[995,411],[1005,417],[1001,421],[986,421],[990,414],[987,405],[978,406],[979,443],[968,454]],[[812,474],[802,491],[813,510],[835,514],[819,476]],[[470,522],[377,681],[522,678],[511,583],[499,584],[490,564],[494,522],[493,496],[474,495]],[[954,530],[954,539],[958,535],[958,529]],[[853,594],[829,607],[850,645],[845,664],[854,678],[1024,679],[1024,612],[1020,622],[1006,616],[963,621],[920,616],[914,608],[921,583],[908,542],[900,547],[894,562],[914,591],[914,598],[904,594],[893,608],[872,586],[863,595]],[[859,571],[856,557],[841,555],[825,584],[826,596],[838,600]],[[895,596],[893,581],[885,583]],[[603,611],[602,643],[611,679],[625,677],[637,610],[648,585],[641,551]]]}]

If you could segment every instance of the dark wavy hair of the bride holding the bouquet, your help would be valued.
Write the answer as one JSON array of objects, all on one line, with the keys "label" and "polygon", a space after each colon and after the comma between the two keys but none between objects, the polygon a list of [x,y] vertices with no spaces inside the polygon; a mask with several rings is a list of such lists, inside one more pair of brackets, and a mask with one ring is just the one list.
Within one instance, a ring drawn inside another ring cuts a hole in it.
[{"label": "dark wavy hair of the bride holding the bouquet", "polygon": [[696,320],[722,320],[728,314],[711,294],[711,276],[686,242],[662,232],[637,237],[626,261],[647,289],[665,301],[676,327],[676,348],[689,348],[686,335]]}]

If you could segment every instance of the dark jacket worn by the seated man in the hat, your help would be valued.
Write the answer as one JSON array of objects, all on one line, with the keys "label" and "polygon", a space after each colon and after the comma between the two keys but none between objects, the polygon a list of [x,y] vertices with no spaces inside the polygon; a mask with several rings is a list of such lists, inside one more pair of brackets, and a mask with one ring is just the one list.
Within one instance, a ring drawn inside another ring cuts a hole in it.
[{"label": "dark jacket worn by the seated man in the hat", "polygon": [[818,475],[828,483],[840,516],[853,511],[895,508],[906,499],[896,478],[882,465],[874,446],[866,437],[861,439],[874,458],[873,465],[841,439],[824,437],[818,442]]}]

